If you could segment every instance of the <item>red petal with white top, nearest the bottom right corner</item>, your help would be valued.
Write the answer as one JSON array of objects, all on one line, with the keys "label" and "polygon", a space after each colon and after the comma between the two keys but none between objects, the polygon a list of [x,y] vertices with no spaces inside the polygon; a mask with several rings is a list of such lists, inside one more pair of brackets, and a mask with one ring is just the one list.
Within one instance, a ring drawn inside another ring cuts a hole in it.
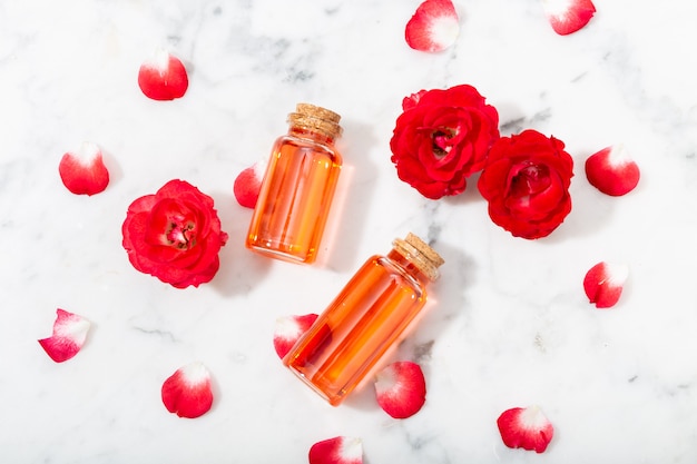
[{"label": "red petal with white top, nearest the bottom right corner", "polygon": [[552,440],[554,428],[538,406],[514,407],[497,419],[501,438],[511,448],[542,453]]}]

